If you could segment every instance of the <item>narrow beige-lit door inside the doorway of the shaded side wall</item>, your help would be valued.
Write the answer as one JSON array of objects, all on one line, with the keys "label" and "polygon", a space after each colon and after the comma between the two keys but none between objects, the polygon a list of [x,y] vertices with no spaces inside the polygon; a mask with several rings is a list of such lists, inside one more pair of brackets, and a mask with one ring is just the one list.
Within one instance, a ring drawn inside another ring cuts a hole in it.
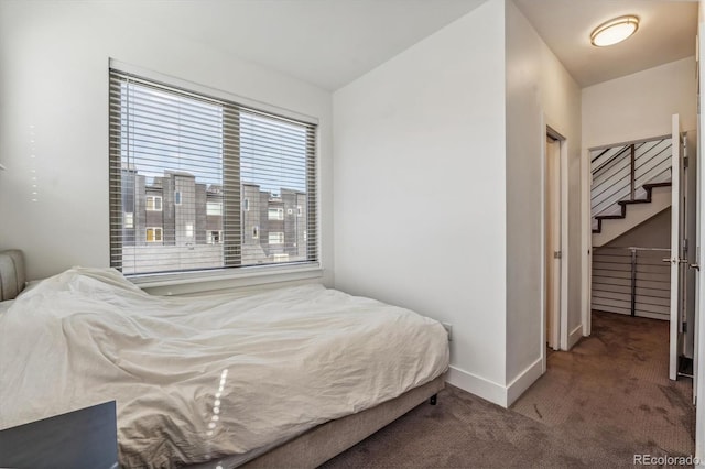
[{"label": "narrow beige-lit door inside the doorway of the shaded side wall", "polygon": [[561,142],[546,135],[546,343],[561,348]]}]

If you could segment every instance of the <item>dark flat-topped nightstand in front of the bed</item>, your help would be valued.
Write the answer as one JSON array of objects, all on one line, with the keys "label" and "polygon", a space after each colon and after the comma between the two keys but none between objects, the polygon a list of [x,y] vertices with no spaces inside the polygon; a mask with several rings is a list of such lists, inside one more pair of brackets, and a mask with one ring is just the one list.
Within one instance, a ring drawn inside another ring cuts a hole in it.
[{"label": "dark flat-topped nightstand in front of the bed", "polygon": [[0,467],[118,467],[115,401],[0,430]]}]

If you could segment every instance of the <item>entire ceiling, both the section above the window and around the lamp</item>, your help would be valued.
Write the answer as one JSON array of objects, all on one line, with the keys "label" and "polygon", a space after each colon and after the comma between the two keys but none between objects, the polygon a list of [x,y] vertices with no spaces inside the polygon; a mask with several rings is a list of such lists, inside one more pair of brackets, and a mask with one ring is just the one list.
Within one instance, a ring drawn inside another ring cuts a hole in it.
[{"label": "entire ceiling, both the section above the window and around the lamp", "polygon": [[[181,0],[119,2],[142,28],[177,33],[267,68],[336,90],[486,0]],[[582,86],[695,54],[697,2],[514,0]],[[637,14],[637,34],[616,46],[590,31]]]}]

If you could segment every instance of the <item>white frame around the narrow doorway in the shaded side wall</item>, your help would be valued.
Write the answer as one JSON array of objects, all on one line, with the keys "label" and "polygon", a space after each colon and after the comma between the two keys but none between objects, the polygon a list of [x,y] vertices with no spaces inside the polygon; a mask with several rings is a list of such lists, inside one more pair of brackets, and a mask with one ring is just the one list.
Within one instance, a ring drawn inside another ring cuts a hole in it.
[{"label": "white frame around the narrow doorway in the shaded side wall", "polygon": [[555,126],[546,123],[546,118],[542,119],[542,135],[541,135],[541,357],[542,357],[542,372],[546,370],[546,184],[547,184],[547,167],[546,167],[546,137],[551,137],[556,140],[560,145],[560,184],[561,184],[561,307],[558,314],[558,346],[561,350],[568,349],[568,324],[567,324],[567,310],[568,310],[568,261],[570,261],[570,246],[568,246],[568,142],[567,139],[556,130]]}]

